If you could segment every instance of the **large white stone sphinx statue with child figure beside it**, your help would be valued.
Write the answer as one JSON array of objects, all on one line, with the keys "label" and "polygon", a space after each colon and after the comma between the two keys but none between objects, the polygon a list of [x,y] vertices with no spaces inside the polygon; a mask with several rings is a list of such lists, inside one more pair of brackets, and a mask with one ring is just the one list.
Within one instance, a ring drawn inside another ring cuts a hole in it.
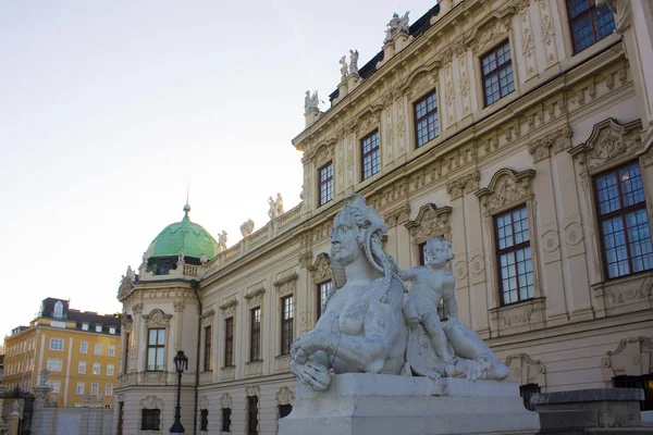
[{"label": "large white stone sphinx statue with child figure beside it", "polygon": [[[381,247],[381,215],[353,195],[331,233],[335,281],[316,328],[291,349],[291,370],[316,390],[342,373],[502,380],[507,368],[457,319],[453,259],[443,238],[427,244],[428,265],[401,271]],[[406,300],[402,279],[411,283]],[[438,306],[444,301],[448,319]]]}]

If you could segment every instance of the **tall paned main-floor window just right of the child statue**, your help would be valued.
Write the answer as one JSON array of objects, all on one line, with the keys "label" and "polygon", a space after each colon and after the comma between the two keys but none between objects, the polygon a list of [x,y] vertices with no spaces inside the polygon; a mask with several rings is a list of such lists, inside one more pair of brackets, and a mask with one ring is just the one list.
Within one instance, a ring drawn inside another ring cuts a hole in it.
[{"label": "tall paned main-floor window just right of the child statue", "polygon": [[502,303],[534,297],[526,206],[495,217]]}]

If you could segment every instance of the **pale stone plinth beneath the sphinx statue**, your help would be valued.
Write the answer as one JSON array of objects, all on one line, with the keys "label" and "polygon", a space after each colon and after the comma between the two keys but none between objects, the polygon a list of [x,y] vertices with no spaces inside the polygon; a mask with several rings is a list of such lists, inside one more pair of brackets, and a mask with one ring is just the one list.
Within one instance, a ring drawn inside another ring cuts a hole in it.
[{"label": "pale stone plinth beneath the sphinx statue", "polygon": [[326,391],[297,381],[289,415],[280,435],[532,435],[540,430],[519,385],[510,381],[347,373],[332,377]]}]

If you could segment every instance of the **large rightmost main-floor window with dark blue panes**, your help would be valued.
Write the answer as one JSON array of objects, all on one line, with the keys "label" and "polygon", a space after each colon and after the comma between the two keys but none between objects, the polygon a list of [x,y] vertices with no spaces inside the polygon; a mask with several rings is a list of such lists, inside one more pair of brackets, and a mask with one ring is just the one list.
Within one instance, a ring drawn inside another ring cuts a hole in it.
[{"label": "large rightmost main-floor window with dark blue panes", "polygon": [[637,162],[594,178],[608,278],[653,269],[642,175]]}]

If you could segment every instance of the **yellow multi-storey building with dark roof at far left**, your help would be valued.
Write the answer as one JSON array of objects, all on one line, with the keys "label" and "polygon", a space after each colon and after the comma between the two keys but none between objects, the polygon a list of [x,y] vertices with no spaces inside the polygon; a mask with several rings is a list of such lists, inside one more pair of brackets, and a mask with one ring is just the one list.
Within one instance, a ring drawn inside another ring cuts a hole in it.
[{"label": "yellow multi-storey building with dark roof at far left", "polygon": [[120,318],[73,310],[69,301],[47,298],[29,326],[4,338],[9,389],[32,390],[48,370],[50,400],[58,406],[113,403],[120,351]]}]

